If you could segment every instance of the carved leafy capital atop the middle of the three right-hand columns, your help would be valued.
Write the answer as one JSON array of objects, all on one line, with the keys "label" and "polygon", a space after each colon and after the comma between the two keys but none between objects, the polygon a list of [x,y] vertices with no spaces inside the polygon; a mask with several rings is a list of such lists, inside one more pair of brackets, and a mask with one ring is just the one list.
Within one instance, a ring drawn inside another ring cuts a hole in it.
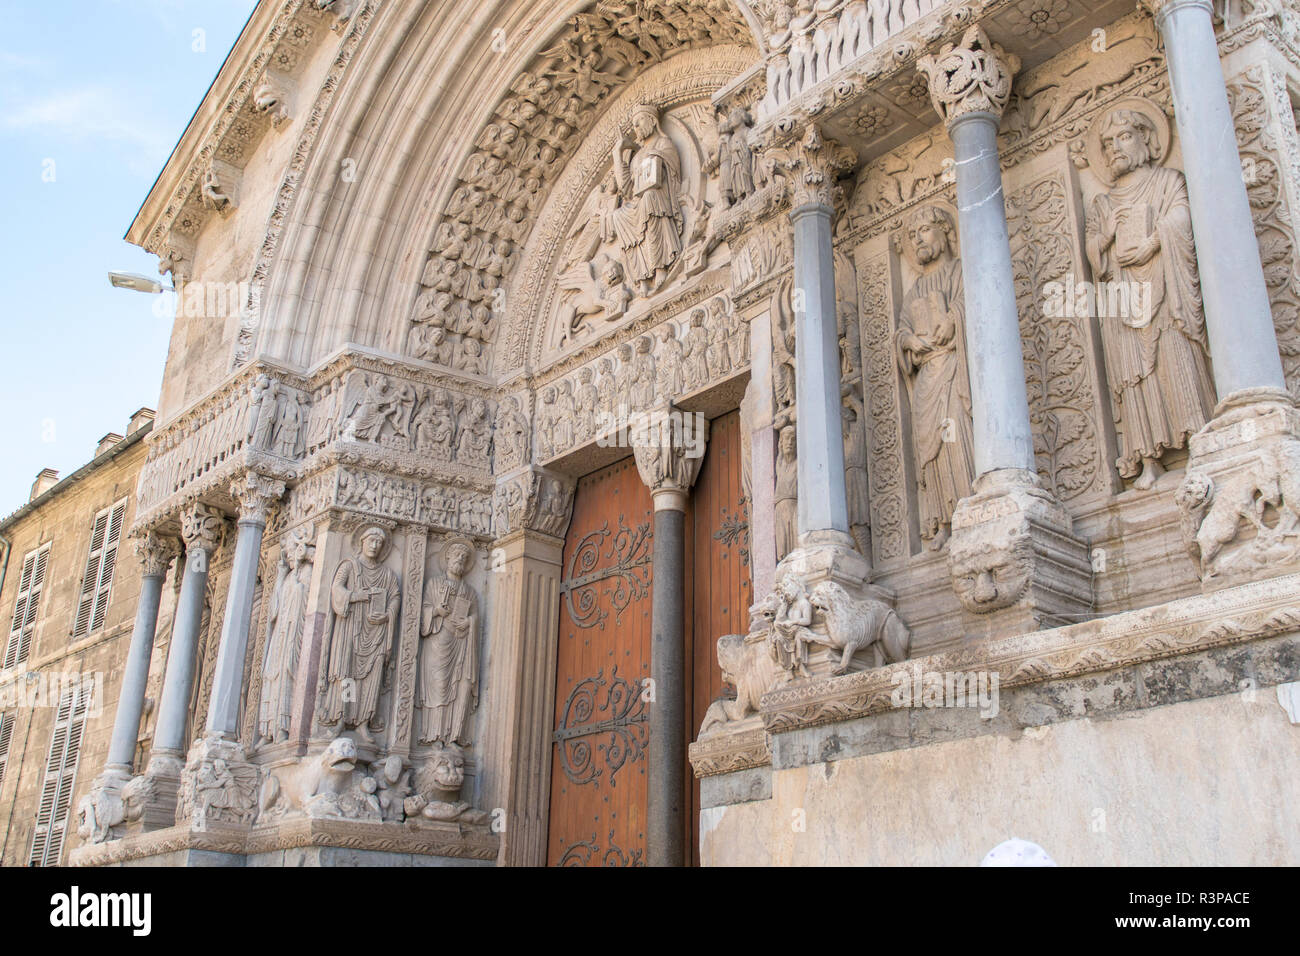
[{"label": "carved leafy capital atop the middle of the three right-hand columns", "polygon": [[961,43],[948,43],[937,56],[916,61],[916,70],[930,81],[935,111],[949,125],[968,113],[1001,117],[1019,69],[1020,57],[989,40],[978,23]]}]

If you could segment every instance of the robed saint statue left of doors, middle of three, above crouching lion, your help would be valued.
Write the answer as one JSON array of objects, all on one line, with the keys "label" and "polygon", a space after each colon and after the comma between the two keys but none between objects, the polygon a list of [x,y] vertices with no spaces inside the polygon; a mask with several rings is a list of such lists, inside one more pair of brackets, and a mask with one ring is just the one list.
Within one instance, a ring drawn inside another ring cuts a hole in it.
[{"label": "robed saint statue left of doors, middle of three, above crouching lion", "polygon": [[380,695],[398,628],[402,583],[384,566],[389,533],[361,529],[355,559],[343,561],[330,584],[333,622],[320,722],[356,728],[364,739],[382,731]]}]

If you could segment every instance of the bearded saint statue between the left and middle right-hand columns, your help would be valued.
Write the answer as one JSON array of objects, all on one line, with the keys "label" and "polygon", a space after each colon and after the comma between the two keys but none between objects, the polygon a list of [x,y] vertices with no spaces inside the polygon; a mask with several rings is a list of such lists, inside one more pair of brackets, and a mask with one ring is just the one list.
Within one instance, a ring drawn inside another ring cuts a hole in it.
[{"label": "bearded saint statue between the left and middle right-hand columns", "polygon": [[932,550],[952,533],[953,509],[975,477],[971,386],[966,367],[962,263],[953,255],[957,226],[937,206],[907,220],[900,237],[920,277],[902,299],[898,364],[911,401],[920,536]]}]

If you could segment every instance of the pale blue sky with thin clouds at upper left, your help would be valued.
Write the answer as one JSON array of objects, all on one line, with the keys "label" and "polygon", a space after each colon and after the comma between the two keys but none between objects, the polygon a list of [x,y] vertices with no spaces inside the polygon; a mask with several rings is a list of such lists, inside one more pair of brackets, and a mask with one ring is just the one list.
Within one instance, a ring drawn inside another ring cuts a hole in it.
[{"label": "pale blue sky with thin clouds at upper left", "polygon": [[122,235],[255,5],[0,0],[0,515],[156,407],[172,321],[107,273],[157,274]]}]

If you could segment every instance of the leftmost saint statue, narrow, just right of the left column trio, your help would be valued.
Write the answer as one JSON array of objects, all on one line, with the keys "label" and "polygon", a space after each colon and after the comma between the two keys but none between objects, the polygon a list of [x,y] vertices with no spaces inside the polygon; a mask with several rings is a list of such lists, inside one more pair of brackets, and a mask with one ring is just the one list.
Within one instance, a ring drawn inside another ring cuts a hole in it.
[{"label": "leftmost saint statue, narrow, just right of the left column trio", "polygon": [[312,587],[313,536],[311,524],[290,532],[280,554],[266,614],[269,630],[257,705],[257,737],[263,744],[289,740],[294,678],[298,676],[303,624],[307,620],[307,592]]}]

